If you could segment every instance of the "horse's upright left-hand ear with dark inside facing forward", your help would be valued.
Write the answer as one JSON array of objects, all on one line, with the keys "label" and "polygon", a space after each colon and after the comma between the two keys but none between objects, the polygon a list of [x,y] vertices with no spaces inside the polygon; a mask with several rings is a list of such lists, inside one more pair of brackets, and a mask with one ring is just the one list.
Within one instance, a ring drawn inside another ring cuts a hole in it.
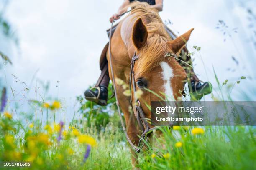
[{"label": "horse's upright left-hand ear with dark inside facing forward", "polygon": [[135,21],[132,34],[133,44],[137,49],[143,47],[148,39],[148,30],[141,18]]}]

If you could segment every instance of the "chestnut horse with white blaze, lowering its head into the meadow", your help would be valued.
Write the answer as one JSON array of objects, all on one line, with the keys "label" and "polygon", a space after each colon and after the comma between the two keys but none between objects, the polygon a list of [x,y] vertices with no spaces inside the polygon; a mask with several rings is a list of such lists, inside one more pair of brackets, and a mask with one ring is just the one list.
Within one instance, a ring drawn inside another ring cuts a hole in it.
[{"label": "chestnut horse with white blaze, lowering its head into the meadow", "polygon": [[[114,77],[115,80],[121,79],[125,83],[129,83],[131,59],[136,52],[139,58],[134,65],[135,84],[136,89],[143,91],[141,107],[145,117],[151,118],[151,111],[146,107],[146,103],[150,105],[151,101],[159,100],[159,97],[153,95],[149,90],[154,91],[162,98],[166,96],[172,97],[174,100],[181,98],[187,74],[177,60],[173,57],[166,57],[166,53],[179,54],[192,30],[171,40],[158,12],[148,4],[140,2],[134,3],[131,13],[118,24],[111,38]],[[109,51],[107,59],[109,61]],[[108,62],[108,70],[110,79],[113,81],[110,62]],[[149,90],[145,90],[145,87]],[[141,133],[136,125],[135,115],[129,112],[129,97],[123,94],[124,90],[121,85],[117,85],[116,90],[120,107],[124,113],[128,136],[136,145],[139,140],[138,135]],[[134,105],[133,92],[131,95]],[[134,150],[131,150],[131,153],[132,163],[135,165],[137,155]]]}]

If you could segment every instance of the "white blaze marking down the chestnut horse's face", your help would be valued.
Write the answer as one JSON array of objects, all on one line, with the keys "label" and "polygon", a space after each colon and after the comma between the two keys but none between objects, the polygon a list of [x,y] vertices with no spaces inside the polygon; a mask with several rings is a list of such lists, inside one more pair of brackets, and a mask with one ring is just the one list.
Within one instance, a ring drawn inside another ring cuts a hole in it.
[{"label": "white blaze marking down the chestnut horse's face", "polygon": [[164,61],[161,62],[160,65],[163,70],[162,75],[163,75],[163,80],[164,80],[164,90],[165,90],[164,93],[165,93],[167,99],[174,100],[172,84],[171,84],[171,80],[173,78],[172,67],[170,67],[169,64]]}]

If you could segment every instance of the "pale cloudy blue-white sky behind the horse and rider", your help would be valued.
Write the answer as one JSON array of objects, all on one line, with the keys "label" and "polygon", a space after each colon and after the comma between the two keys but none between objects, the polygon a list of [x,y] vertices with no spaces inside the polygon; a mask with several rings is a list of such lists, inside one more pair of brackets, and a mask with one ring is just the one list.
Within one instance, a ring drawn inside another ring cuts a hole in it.
[{"label": "pale cloudy blue-white sky behind the horse and rider", "polygon": [[[122,2],[11,0],[5,18],[15,30],[19,45],[0,34],[4,40],[0,42],[0,50],[13,61],[13,65],[5,67],[3,84],[12,87],[18,98],[24,98],[20,93],[24,85],[16,82],[15,75],[33,89],[26,98],[40,100],[43,93],[40,82],[49,82],[49,94],[65,102],[67,114],[73,114],[75,97],[83,95],[100,75],[99,57],[108,42],[105,31],[110,28],[108,19]],[[236,100],[242,100],[241,90],[255,91],[256,49],[249,41],[255,27],[248,28],[246,7],[256,7],[256,2],[164,0],[164,9],[160,12],[162,20],[169,19],[172,23],[169,28],[178,35],[195,28],[187,46],[190,52],[195,52],[194,70],[202,81],[212,82],[217,89],[213,67],[221,83],[226,79],[234,82],[241,76],[248,77],[234,87],[232,94]],[[216,29],[219,20],[228,25],[225,30],[231,37]],[[201,47],[200,52],[192,48],[194,45]],[[8,95],[11,96],[10,89]],[[255,100],[256,96],[253,97]],[[210,100],[210,96],[205,100]]]}]

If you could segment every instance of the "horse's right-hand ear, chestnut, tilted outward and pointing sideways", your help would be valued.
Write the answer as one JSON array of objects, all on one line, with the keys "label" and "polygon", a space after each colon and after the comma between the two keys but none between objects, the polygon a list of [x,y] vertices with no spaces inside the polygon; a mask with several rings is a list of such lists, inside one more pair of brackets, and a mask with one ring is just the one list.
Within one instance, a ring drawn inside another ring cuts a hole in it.
[{"label": "horse's right-hand ear, chestnut, tilted outward and pointing sideways", "polygon": [[186,45],[187,41],[189,40],[190,34],[193,30],[194,28],[191,28],[188,32],[182,34],[174,40],[167,42],[168,46],[175,54],[177,54]]}]

